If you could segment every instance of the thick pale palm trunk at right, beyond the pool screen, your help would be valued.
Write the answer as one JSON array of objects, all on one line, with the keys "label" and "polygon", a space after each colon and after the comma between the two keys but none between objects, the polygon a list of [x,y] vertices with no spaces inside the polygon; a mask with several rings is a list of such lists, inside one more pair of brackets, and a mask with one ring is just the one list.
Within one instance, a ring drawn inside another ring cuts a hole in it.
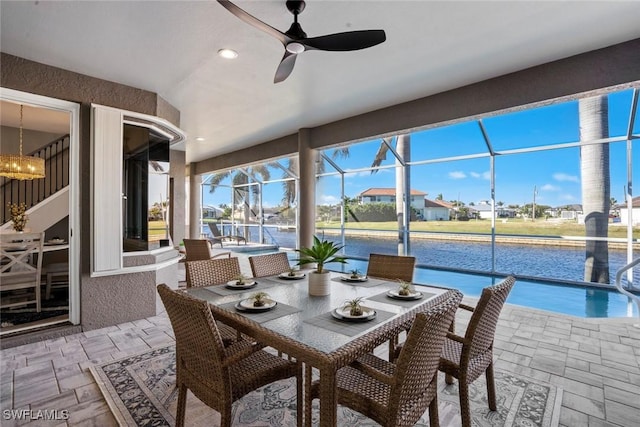
[{"label": "thick pale palm trunk at right, beyond the pool screen", "polygon": [[609,136],[609,111],[606,96],[578,101],[580,117],[580,173],[582,175],[582,208],[586,241],[585,282],[609,283],[609,248],[601,239],[608,236],[610,177],[609,144],[585,142]]}]

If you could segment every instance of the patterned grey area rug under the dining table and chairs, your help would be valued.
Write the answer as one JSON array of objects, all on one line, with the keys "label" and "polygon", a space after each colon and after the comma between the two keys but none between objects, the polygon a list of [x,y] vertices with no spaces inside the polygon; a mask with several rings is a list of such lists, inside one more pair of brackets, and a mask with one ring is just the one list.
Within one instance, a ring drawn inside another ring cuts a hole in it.
[{"label": "patterned grey area rug under the dining table and chairs", "polygon": [[[175,347],[162,347],[106,362],[91,368],[100,390],[121,426],[173,426],[177,406]],[[439,381],[439,415],[442,426],[460,426],[458,390]],[[470,390],[474,426],[555,427],[558,425],[562,389],[506,372],[496,372],[498,410],[489,411],[483,380]],[[234,426],[295,426],[294,380],[278,381],[248,394],[234,404]],[[314,424],[317,405],[314,401]],[[188,426],[219,425],[219,415],[190,392]],[[376,426],[348,408],[338,408],[340,426]],[[417,426],[428,426],[428,413]]]}]

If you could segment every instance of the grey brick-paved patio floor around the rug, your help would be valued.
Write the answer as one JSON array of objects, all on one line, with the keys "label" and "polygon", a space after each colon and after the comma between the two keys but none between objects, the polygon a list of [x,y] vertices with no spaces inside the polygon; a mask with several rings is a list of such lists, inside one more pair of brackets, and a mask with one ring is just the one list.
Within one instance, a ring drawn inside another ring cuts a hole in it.
[{"label": "grey brick-paved patio floor around the rug", "polygon": [[[243,264],[243,271],[246,267]],[[458,332],[464,320],[459,316]],[[496,336],[496,368],[561,387],[561,426],[638,426],[640,328],[633,323],[638,319],[582,319],[507,305]],[[2,350],[0,424],[116,425],[88,367],[173,340],[162,313]],[[69,418],[10,421],[5,419],[6,409],[66,409]]]}]

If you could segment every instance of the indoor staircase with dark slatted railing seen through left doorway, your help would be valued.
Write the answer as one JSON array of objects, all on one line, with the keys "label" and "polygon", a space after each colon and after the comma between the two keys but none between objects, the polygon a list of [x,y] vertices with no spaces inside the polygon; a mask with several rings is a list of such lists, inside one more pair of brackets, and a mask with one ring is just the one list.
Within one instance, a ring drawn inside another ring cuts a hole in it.
[{"label": "indoor staircase with dark slatted railing seen through left doorway", "polygon": [[25,203],[27,228],[46,230],[69,215],[69,135],[64,135],[29,156],[45,159],[45,178],[32,181],[0,178],[2,209],[0,231],[11,231],[9,203]]}]

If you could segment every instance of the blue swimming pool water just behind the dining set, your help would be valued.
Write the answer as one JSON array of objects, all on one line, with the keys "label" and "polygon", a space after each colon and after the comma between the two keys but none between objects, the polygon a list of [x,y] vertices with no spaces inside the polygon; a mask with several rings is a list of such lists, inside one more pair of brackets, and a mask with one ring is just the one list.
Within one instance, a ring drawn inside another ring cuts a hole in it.
[{"label": "blue swimming pool water just behind the dining set", "polygon": [[[340,265],[332,269],[340,270]],[[345,270],[367,270],[364,260],[349,259]],[[502,280],[504,276],[461,273],[416,267],[418,284],[444,286],[460,290],[465,296],[479,297],[482,288]],[[560,284],[542,280],[518,279],[507,302],[577,317],[637,317],[638,308],[616,290]]]}]

